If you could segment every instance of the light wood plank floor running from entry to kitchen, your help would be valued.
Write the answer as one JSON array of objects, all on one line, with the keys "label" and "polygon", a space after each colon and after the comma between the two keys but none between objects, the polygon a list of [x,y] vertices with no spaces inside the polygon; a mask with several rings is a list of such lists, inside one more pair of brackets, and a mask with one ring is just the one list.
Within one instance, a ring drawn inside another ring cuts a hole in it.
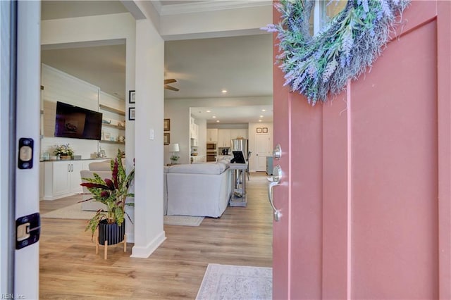
[{"label": "light wood plank floor running from entry to kitchen", "polygon": [[[248,205],[228,207],[199,227],[165,225],[166,241],[149,258],[110,246],[95,254],[85,220],[42,218],[40,299],[194,299],[209,263],[272,266],[272,214],[265,173],[251,173]],[[41,201],[41,213],[77,197]],[[101,248],[100,250],[102,250]]]}]

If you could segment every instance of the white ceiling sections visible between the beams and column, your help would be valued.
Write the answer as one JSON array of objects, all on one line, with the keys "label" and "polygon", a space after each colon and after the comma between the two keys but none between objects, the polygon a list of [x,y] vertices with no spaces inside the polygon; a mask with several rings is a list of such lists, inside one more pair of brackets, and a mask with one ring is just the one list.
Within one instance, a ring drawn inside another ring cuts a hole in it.
[{"label": "white ceiling sections visible between the beams and column", "polygon": [[[154,2],[187,6],[199,1]],[[43,20],[125,11],[119,1],[42,1]],[[171,85],[180,89],[165,90],[165,99],[272,96],[272,49],[268,34],[165,42],[165,79],[174,78],[177,82]],[[120,41],[109,46],[46,47],[42,62],[125,99],[125,44]],[[222,94],[222,89],[227,89],[227,94]],[[192,113],[202,118],[208,114],[199,111],[214,111],[218,118],[208,118],[207,123],[218,119],[222,124],[256,122],[259,115],[271,122],[272,107],[264,108],[266,113],[260,106],[197,108]]]}]

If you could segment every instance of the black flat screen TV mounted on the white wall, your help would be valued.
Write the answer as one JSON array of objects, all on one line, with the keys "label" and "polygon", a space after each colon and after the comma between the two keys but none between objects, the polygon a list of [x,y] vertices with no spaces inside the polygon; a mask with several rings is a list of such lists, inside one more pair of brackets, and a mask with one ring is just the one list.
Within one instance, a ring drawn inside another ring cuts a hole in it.
[{"label": "black flat screen TV mounted on the white wall", "polygon": [[102,114],[86,108],[56,102],[55,137],[97,139],[101,136]]}]

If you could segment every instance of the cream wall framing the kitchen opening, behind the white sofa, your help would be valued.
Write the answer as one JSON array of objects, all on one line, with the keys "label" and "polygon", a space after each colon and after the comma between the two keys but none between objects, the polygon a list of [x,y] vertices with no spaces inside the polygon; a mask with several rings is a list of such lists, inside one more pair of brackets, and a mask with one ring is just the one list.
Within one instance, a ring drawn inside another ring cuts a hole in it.
[{"label": "cream wall framing the kitchen opening, behind the white sofa", "polygon": [[[242,98],[206,98],[206,99],[166,99],[164,101],[164,118],[171,119],[171,141],[180,144],[180,163],[190,163],[190,107],[204,106],[251,106],[272,104],[271,96]],[[198,124],[199,125],[199,124]],[[199,127],[199,133],[201,128]],[[206,140],[206,139],[205,139]],[[199,140],[199,146],[200,144]],[[205,142],[203,143],[205,144]],[[171,154],[167,146],[164,161],[169,163]]]}]

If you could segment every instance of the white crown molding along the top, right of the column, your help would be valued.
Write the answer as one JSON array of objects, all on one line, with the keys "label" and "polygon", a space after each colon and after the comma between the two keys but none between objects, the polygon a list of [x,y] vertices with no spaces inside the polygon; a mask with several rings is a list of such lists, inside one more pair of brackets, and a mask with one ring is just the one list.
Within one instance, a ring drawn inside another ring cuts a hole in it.
[{"label": "white crown molding along the top, right of the column", "polygon": [[206,11],[223,11],[228,9],[240,9],[257,6],[272,6],[271,0],[210,0],[189,2],[187,4],[161,5],[161,1],[152,1],[159,15],[179,15],[182,13],[201,13]]}]

